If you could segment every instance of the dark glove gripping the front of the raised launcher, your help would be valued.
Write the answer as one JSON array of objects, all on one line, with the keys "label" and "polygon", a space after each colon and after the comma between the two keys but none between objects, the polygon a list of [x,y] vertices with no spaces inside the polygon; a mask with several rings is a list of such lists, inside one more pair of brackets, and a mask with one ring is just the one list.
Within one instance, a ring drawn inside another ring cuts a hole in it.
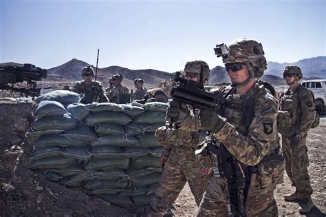
[{"label": "dark glove gripping the front of the raised launcher", "polygon": [[184,103],[180,103],[180,101],[177,101],[176,99],[170,101],[169,107],[166,110],[166,116],[171,118],[171,121],[177,124],[182,123],[189,113],[188,106]]}]

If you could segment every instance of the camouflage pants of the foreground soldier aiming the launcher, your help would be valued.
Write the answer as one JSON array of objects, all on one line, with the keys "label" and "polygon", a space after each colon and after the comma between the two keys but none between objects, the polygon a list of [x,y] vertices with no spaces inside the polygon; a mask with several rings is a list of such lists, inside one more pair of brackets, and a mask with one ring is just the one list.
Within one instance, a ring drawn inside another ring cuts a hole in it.
[{"label": "camouflage pants of the foreground soldier aiming the launcher", "polygon": [[[210,178],[210,184],[199,205],[197,216],[228,216],[227,185],[224,178],[216,178],[214,175]],[[261,187],[257,180],[257,174],[252,174],[246,212],[247,216],[278,216],[274,187]]]}]

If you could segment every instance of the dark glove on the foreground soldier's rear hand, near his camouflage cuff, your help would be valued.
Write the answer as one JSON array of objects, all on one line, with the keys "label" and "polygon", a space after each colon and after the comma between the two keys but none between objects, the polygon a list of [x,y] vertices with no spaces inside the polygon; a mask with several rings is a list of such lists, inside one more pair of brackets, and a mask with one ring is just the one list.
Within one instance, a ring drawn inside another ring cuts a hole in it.
[{"label": "dark glove on the foreground soldier's rear hand, near his camouflage cuff", "polygon": [[199,112],[199,127],[217,133],[226,123],[226,118],[219,116],[214,110],[202,109]]}]

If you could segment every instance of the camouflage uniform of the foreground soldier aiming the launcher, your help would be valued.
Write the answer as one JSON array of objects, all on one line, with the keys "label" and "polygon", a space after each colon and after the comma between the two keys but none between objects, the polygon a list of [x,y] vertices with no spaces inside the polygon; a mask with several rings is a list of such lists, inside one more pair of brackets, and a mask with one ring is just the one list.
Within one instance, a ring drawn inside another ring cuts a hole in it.
[{"label": "camouflage uniform of the foreground soldier aiming the launcher", "polygon": [[[228,89],[228,88],[227,88]],[[227,99],[243,103],[250,98],[256,98],[252,123],[246,129],[242,121],[242,112],[239,107],[230,105],[225,108],[226,124],[214,136],[224,144],[226,149],[241,162],[242,167],[259,164],[263,158],[272,154],[280,154],[279,139],[277,136],[276,116],[278,101],[268,90],[255,84],[246,96],[230,94]],[[257,96],[257,94],[259,94]],[[248,112],[248,111],[246,111]],[[198,116],[187,118],[182,123],[183,130],[198,130]],[[189,116],[190,117],[190,116]],[[248,132],[247,132],[248,130]],[[246,133],[247,132],[247,133]],[[246,202],[248,216],[277,216],[277,206],[274,199],[276,183],[262,187],[259,183],[259,172],[252,174]],[[227,183],[224,178],[212,176],[197,216],[227,216],[226,198],[228,196]]]}]

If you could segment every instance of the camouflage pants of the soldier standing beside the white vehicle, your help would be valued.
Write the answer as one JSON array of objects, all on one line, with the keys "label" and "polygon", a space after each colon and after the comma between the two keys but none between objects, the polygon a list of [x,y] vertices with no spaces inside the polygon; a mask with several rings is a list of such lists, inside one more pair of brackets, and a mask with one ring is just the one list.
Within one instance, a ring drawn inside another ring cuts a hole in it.
[{"label": "camouflage pants of the soldier standing beside the white vehicle", "polygon": [[307,167],[309,159],[306,138],[302,138],[296,147],[292,147],[289,137],[282,136],[282,151],[285,158],[285,171],[291,182],[296,186],[296,190],[303,196],[312,194],[312,185]]}]

